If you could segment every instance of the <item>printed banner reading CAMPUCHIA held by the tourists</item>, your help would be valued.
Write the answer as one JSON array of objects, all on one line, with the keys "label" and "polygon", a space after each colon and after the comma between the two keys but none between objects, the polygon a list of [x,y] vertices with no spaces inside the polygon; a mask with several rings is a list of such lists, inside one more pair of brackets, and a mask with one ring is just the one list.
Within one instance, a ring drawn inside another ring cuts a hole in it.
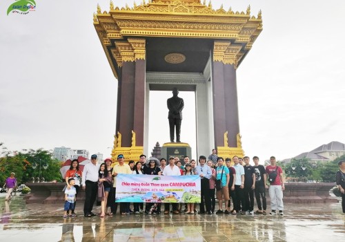
[{"label": "printed banner reading CAMPUCHIA held by the tourists", "polygon": [[116,203],[201,203],[199,176],[118,174]]}]

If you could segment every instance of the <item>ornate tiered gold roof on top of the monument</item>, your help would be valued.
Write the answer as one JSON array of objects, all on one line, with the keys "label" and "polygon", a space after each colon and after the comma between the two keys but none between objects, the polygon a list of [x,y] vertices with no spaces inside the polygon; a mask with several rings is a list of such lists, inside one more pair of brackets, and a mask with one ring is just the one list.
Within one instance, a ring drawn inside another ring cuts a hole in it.
[{"label": "ornate tiered gold roof on top of the monument", "polygon": [[[112,45],[111,40],[128,37],[223,39],[238,49],[240,59],[248,53],[262,31],[261,11],[255,17],[250,16],[250,6],[246,12],[234,12],[231,8],[224,10],[223,6],[214,10],[211,3],[201,3],[200,0],[148,0],[148,3],[143,0],[139,5],[134,3],[132,8],[126,5],[121,9],[110,1],[108,12],[102,12],[97,6],[93,21],[115,76],[111,51],[107,49]],[[226,50],[229,51],[233,50]],[[112,51],[112,55],[115,52]]]}]

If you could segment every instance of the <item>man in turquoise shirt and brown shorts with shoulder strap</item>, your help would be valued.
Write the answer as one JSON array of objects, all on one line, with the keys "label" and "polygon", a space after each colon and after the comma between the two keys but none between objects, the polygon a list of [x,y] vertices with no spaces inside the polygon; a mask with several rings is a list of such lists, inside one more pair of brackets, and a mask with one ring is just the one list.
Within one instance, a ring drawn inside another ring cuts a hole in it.
[{"label": "man in turquoise shirt and brown shorts with shoulder strap", "polygon": [[224,160],[221,157],[217,158],[217,168],[216,168],[217,180],[221,180],[221,189],[217,189],[217,199],[219,203],[219,210],[216,212],[216,214],[222,214],[223,213],[223,196],[224,196],[224,202],[225,202],[225,214],[229,214],[227,208],[228,208],[228,202],[229,202],[229,180],[230,180],[230,174],[229,169],[224,165]]}]

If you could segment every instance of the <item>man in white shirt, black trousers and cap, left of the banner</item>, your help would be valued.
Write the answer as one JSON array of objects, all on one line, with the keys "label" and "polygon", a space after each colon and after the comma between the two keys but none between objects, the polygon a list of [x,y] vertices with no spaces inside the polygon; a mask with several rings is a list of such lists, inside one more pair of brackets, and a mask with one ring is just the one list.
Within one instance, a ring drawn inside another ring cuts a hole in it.
[{"label": "man in white shirt, black trousers and cap, left of the banner", "polygon": [[83,189],[85,190],[84,216],[86,217],[95,216],[95,214],[92,213],[92,207],[97,196],[98,171],[99,165],[97,165],[97,155],[93,154],[91,156],[91,163],[86,164],[83,169],[81,180],[81,185],[83,185]]}]

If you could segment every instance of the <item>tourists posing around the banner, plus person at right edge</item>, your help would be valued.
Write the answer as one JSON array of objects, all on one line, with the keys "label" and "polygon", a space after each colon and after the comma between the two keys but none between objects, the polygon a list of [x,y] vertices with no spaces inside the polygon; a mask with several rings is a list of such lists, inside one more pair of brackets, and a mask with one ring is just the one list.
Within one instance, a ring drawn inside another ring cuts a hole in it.
[{"label": "tourists posing around the banner, plus person at right edge", "polygon": [[[250,158],[243,159],[238,156],[230,158],[218,157],[213,153],[206,159],[206,156],[199,156],[199,165],[195,160],[184,157],[184,165],[178,157],[170,157],[167,160],[151,157],[146,160],[145,155],[139,157],[139,161],[130,160],[124,162],[124,156],[117,156],[118,164],[112,166],[112,160],[106,158],[101,165],[97,163],[97,155],[91,156],[91,162],[85,165],[83,172],[79,169],[78,160],[73,160],[70,169],[66,172],[65,190],[65,214],[75,216],[75,204],[79,187],[85,189],[85,203],[83,213],[86,217],[95,216],[92,207],[97,199],[101,205],[99,216],[112,216],[116,214],[119,205],[121,215],[126,214],[160,214],[160,203],[133,203],[133,210],[130,203],[115,203],[116,179],[118,174],[148,174],[162,176],[188,176],[198,175],[201,180],[201,203],[199,214],[267,214],[266,189],[270,196],[269,214],[284,215],[283,191],[284,176],[282,167],[276,165],[274,156],[270,157],[270,165],[264,167],[259,165],[259,158],[253,157],[254,165],[250,165]],[[233,165],[232,165],[233,162]],[[339,162],[337,172],[337,185],[342,193],[342,207],[345,212],[345,161]],[[215,211],[216,198],[218,210]],[[257,203],[257,210],[254,211],[254,198]],[[232,200],[232,203],[231,203]],[[231,209],[230,205],[233,205]],[[171,210],[170,210],[171,205]],[[223,206],[224,205],[224,206]],[[110,207],[110,212],[108,212]],[[164,214],[195,214],[197,204],[186,203],[184,210],[182,203],[164,203]]]}]

